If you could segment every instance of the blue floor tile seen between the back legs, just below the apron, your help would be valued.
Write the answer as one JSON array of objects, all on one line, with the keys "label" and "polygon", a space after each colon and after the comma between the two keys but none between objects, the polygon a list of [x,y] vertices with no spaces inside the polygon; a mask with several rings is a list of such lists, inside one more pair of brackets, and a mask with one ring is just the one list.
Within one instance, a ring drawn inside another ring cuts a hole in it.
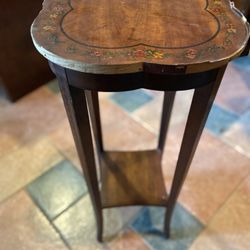
[{"label": "blue floor tile seen between the back legs, just below the apron", "polygon": [[137,89],[133,91],[114,93],[111,95],[110,99],[128,112],[133,112],[142,105],[151,101],[153,97],[143,89]]}]

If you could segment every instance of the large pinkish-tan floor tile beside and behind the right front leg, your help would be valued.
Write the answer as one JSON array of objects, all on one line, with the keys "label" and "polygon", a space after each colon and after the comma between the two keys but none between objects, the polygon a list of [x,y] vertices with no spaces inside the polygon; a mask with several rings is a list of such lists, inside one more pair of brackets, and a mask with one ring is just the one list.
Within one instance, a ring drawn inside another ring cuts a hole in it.
[{"label": "large pinkish-tan floor tile beside and behind the right front leg", "polygon": [[[172,180],[179,144],[176,130],[169,135],[163,159],[167,187]],[[249,158],[205,131],[183,186],[180,202],[207,224],[249,173],[249,166]]]}]

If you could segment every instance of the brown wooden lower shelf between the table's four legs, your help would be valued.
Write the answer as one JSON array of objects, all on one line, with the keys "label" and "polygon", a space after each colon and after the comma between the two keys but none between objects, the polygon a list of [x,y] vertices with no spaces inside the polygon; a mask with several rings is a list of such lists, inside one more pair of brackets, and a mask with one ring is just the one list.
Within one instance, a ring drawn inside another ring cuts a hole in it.
[{"label": "brown wooden lower shelf between the table's four legs", "polygon": [[167,205],[157,150],[105,152],[101,160],[102,207]]}]

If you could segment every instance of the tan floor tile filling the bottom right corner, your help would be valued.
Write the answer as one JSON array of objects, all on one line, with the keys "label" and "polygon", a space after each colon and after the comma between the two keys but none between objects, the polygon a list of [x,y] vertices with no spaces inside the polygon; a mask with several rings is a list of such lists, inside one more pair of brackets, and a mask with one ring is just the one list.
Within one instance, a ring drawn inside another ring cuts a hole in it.
[{"label": "tan floor tile filling the bottom right corner", "polygon": [[208,228],[197,238],[192,250],[249,249],[250,176],[214,216]]}]

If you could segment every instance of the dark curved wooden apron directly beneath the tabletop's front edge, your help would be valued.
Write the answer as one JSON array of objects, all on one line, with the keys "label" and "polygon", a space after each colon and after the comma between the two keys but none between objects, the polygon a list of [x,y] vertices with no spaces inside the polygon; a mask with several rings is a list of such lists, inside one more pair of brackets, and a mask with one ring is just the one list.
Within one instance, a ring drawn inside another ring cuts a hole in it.
[{"label": "dark curved wooden apron directly beneath the tabletop's front edge", "polygon": [[[159,65],[159,68],[161,66]],[[81,89],[99,91],[126,91],[138,88],[153,90],[187,90],[198,88],[217,75],[217,69],[192,74],[148,74],[131,73],[117,75],[88,74],[66,69],[70,84]]]}]

